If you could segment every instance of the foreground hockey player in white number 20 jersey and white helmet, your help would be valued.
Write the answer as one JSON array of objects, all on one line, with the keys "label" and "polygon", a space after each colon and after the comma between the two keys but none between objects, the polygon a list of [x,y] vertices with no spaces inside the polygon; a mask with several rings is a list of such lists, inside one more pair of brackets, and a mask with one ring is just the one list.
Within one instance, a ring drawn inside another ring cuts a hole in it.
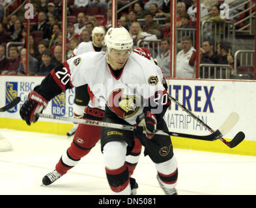
[{"label": "foreground hockey player in white number 20 jersey and white helmet", "polygon": [[102,153],[113,194],[130,194],[125,158],[134,145],[134,134],[145,146],[145,155],[154,162],[165,194],[177,194],[178,170],[171,140],[169,136],[153,134],[156,128],[167,131],[163,116],[171,104],[162,85],[162,72],[149,60],[132,53],[133,42],[126,29],[109,29],[104,42],[106,53],[79,55],[52,70],[29,93],[20,109],[21,118],[30,125],[38,119],[36,113],[57,94],[88,84],[95,98],[92,102],[106,105],[105,122],[139,126],[134,133],[102,127]]}]

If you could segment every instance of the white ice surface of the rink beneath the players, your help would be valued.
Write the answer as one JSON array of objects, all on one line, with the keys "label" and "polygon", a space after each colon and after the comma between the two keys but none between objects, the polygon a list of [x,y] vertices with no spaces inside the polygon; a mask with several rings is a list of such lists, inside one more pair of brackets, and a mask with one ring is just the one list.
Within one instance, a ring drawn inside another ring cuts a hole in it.
[{"label": "white ice surface of the rink beneath the players", "polygon": [[[66,175],[48,187],[42,177],[55,168],[70,146],[67,136],[0,129],[12,151],[0,152],[0,195],[109,195],[100,144]],[[178,194],[256,194],[256,157],[174,149],[178,161]],[[137,194],[164,194],[149,157],[141,155],[134,172]]]}]

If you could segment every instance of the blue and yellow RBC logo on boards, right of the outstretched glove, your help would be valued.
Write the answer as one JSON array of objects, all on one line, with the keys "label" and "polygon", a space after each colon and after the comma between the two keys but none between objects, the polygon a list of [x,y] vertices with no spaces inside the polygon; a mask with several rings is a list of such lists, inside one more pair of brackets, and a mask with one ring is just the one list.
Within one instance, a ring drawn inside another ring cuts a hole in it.
[{"label": "blue and yellow RBC logo on boards, right of the outstretched glove", "polygon": [[64,116],[66,110],[66,94],[61,92],[58,96],[55,96],[51,102],[51,114],[55,116]]}]

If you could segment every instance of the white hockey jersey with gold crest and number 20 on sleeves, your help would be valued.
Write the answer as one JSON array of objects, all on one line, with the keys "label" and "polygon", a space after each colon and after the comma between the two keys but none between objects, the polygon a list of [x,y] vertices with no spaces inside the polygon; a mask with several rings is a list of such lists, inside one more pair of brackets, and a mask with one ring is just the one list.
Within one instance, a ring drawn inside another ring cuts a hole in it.
[{"label": "white hockey jersey with gold crest and number 20 on sleeves", "polygon": [[119,77],[113,75],[104,52],[83,53],[68,59],[63,66],[63,72],[51,73],[58,85],[88,84],[95,98],[100,99],[101,107],[107,105],[131,125],[143,107],[155,106],[152,113],[158,114],[167,104],[161,69],[137,53],[130,55]]}]

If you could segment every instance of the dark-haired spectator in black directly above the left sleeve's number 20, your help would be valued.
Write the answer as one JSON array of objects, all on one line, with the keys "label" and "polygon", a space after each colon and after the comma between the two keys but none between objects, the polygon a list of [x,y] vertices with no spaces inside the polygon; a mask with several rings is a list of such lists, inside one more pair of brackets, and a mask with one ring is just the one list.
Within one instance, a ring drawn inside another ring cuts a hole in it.
[{"label": "dark-haired spectator in black directly above the left sleeve's number 20", "polygon": [[37,75],[48,75],[48,73],[55,68],[53,55],[48,49],[42,53],[41,63],[42,64],[40,64],[40,67],[38,68]]}]

